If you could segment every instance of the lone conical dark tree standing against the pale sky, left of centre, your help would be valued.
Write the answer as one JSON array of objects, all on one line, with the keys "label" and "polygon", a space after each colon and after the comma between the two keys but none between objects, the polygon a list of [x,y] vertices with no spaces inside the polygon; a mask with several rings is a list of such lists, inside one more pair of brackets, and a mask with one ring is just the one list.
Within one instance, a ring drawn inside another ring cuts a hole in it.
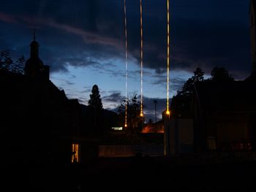
[{"label": "lone conical dark tree standing against the pale sky, left of centre", "polygon": [[99,88],[97,85],[94,85],[91,89],[90,99],[88,101],[90,110],[94,113],[94,129],[99,131],[100,127],[100,118],[102,113],[102,99],[100,99]]}]

